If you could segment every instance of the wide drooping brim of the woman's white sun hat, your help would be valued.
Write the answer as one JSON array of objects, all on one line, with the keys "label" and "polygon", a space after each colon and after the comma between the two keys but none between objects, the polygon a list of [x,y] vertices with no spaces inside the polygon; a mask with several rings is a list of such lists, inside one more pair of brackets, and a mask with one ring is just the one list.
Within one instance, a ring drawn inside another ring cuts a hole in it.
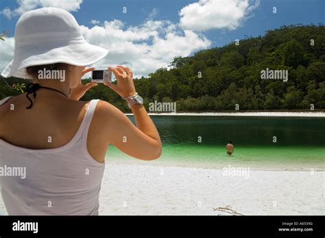
[{"label": "wide drooping brim of the woman's white sun hat", "polygon": [[42,64],[66,63],[75,66],[88,66],[98,62],[108,54],[108,50],[89,44],[86,40],[69,42],[69,44],[56,43],[49,50],[47,45],[35,47],[22,46],[25,49],[15,49],[14,59],[5,67],[1,75],[32,79],[26,68]]}]

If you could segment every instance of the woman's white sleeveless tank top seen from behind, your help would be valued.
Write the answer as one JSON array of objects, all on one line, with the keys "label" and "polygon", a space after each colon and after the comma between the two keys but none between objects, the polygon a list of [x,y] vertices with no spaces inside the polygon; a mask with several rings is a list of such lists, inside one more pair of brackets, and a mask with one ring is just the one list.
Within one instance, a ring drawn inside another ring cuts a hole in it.
[{"label": "woman's white sleeveless tank top seen from behind", "polygon": [[98,101],[89,103],[77,133],[59,148],[32,150],[0,139],[1,194],[9,215],[98,215],[105,164],[87,150]]}]

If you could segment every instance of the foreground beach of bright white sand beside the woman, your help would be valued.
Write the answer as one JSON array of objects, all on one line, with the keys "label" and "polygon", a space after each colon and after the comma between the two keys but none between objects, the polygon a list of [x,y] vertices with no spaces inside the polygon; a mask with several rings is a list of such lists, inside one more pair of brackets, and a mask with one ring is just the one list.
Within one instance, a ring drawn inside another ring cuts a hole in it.
[{"label": "foreground beach of bright white sand beside the woman", "polygon": [[[324,171],[223,174],[214,169],[107,163],[99,214],[325,215]],[[5,214],[0,199],[0,215]]]}]

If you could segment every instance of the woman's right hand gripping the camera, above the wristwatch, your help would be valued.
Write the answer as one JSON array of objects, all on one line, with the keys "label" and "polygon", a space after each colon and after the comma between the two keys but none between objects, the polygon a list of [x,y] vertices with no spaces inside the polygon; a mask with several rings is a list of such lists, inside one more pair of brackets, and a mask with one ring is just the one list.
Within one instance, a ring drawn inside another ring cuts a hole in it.
[{"label": "woman's right hand gripping the camera, above the wristwatch", "polygon": [[119,94],[119,96],[122,98],[125,98],[126,96],[134,96],[134,94],[136,94],[133,74],[130,68],[126,66],[108,66],[108,69],[114,73],[117,79],[117,84],[106,82],[104,83],[105,85],[117,92],[117,94]]}]

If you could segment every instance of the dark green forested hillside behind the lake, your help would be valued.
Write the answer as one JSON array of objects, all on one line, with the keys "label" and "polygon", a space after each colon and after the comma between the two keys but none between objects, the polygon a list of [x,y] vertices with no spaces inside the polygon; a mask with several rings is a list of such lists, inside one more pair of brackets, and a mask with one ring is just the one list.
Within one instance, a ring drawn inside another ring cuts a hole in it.
[{"label": "dark green forested hillside behind the lake", "polygon": [[[239,43],[239,44],[238,44]],[[288,70],[288,80],[261,79],[261,70]],[[133,69],[136,71],[136,69]],[[17,79],[7,79],[12,84]],[[19,79],[19,82],[23,80]],[[178,111],[325,108],[325,27],[292,25],[267,31],[265,36],[175,57],[136,79],[136,90],[150,101],[176,102]],[[19,94],[0,82],[0,98]],[[101,98],[128,111],[125,102],[104,85],[82,98]]]}]

